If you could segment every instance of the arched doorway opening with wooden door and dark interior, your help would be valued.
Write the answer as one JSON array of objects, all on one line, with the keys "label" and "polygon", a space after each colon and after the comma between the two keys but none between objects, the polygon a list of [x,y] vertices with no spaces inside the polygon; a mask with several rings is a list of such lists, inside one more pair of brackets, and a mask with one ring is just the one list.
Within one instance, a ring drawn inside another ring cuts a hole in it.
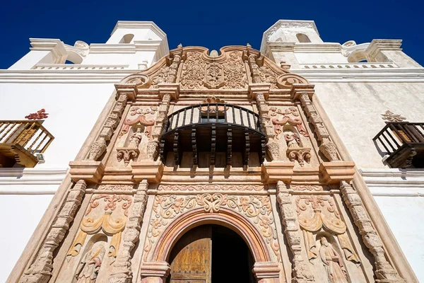
[{"label": "arched doorway opening with wooden door and dark interior", "polygon": [[220,225],[201,225],[179,238],[170,253],[167,283],[256,283],[245,241]]}]

